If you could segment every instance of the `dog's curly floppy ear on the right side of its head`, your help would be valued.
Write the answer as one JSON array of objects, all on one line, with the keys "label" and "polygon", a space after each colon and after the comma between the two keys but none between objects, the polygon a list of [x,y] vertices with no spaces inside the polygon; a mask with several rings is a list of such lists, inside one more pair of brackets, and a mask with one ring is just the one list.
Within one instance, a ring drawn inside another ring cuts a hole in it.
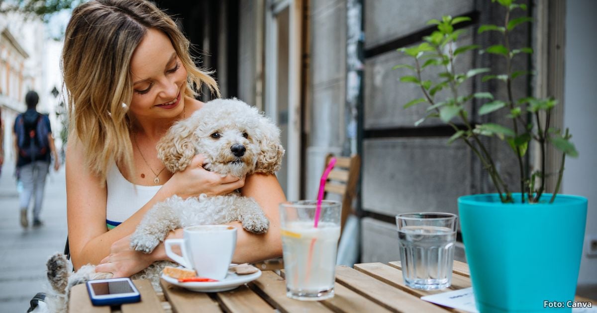
[{"label": "dog's curly floppy ear on the right side of its head", "polygon": [[280,129],[267,117],[260,117],[259,128],[256,129],[256,139],[259,144],[256,173],[273,174],[280,169],[284,147],[280,142]]}]

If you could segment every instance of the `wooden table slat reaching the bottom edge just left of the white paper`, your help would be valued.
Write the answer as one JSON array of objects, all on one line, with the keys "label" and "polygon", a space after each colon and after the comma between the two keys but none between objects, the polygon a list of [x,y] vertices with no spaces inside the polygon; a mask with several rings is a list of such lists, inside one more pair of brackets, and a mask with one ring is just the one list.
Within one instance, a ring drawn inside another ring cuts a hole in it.
[{"label": "wooden table slat reaching the bottom edge just left of the white paper", "polygon": [[423,301],[404,290],[394,288],[348,266],[336,267],[336,281],[391,311],[445,312],[445,309],[439,306]]}]

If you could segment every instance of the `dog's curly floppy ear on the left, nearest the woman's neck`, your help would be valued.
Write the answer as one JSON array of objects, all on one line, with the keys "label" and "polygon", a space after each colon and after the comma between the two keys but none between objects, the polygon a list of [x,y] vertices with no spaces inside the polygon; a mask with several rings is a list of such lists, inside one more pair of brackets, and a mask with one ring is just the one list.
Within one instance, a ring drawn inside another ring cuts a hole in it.
[{"label": "dog's curly floppy ear on the left, nearest the woman's neck", "polygon": [[174,124],[156,145],[158,159],[172,173],[184,171],[195,156],[195,128],[192,127],[191,120],[193,117]]}]

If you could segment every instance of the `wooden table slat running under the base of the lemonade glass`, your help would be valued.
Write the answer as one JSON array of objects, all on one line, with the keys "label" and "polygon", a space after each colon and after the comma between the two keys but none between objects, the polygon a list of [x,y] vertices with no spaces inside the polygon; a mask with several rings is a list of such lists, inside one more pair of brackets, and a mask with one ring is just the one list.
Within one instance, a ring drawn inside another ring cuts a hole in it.
[{"label": "wooden table slat running under the base of the lemonade glass", "polygon": [[280,312],[330,312],[316,301],[300,301],[286,296],[286,281],[272,271],[264,271],[261,277],[249,284],[259,296]]}]

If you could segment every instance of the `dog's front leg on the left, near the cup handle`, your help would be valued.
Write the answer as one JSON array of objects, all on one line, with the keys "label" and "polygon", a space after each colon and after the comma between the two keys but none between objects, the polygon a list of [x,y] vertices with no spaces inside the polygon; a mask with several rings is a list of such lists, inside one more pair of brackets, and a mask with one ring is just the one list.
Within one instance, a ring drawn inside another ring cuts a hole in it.
[{"label": "dog's front leg on the left, near the cup handle", "polygon": [[153,252],[170,231],[180,226],[180,217],[174,210],[174,204],[181,201],[183,200],[180,197],[173,196],[155,204],[147,211],[131,235],[131,249],[144,253]]}]

